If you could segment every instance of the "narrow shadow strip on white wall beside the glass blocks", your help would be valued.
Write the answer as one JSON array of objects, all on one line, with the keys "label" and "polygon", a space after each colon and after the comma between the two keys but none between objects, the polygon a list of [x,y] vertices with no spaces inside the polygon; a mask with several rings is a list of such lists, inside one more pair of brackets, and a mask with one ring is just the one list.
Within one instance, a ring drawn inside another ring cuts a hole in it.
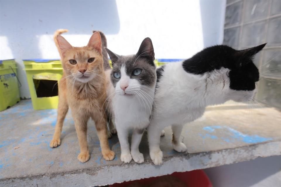
[{"label": "narrow shadow strip on white wall beside the glass blocks", "polygon": [[200,0],[199,2],[204,48],[222,44],[226,0]]}]

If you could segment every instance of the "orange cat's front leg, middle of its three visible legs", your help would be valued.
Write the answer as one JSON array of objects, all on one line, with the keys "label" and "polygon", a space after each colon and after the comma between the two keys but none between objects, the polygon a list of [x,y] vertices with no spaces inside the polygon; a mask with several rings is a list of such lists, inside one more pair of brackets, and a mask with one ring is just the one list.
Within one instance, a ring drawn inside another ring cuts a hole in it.
[{"label": "orange cat's front leg, middle of its three visible legs", "polygon": [[[72,112],[74,113],[74,112]],[[87,162],[90,159],[88,141],[87,141],[87,122],[89,117],[84,115],[73,115],[75,129],[80,145],[80,154],[78,160],[82,163]]]}]

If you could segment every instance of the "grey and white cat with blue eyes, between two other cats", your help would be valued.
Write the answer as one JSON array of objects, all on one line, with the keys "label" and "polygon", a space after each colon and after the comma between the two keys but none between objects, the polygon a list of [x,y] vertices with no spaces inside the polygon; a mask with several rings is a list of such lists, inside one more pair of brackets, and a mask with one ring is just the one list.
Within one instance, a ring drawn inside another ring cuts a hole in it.
[{"label": "grey and white cat with blue eyes, between two other cats", "polygon": [[[136,55],[119,56],[109,49],[112,61],[111,81],[115,88],[113,113],[121,146],[121,161],[137,163],[144,161],[139,152],[143,131],[150,122],[156,84],[154,50],[150,38],[145,38]],[[133,129],[131,151],[129,130]]]}]

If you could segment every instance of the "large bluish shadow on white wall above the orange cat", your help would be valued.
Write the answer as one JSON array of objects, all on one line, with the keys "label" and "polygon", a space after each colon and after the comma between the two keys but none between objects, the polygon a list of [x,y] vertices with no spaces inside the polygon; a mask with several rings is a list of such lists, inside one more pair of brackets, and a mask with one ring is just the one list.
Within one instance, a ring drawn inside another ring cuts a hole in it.
[{"label": "large bluish shadow on white wall above the orange cat", "polygon": [[38,35],[59,28],[75,34],[120,29],[115,1],[0,1],[0,7],[0,37],[6,37],[9,58],[41,58]]}]

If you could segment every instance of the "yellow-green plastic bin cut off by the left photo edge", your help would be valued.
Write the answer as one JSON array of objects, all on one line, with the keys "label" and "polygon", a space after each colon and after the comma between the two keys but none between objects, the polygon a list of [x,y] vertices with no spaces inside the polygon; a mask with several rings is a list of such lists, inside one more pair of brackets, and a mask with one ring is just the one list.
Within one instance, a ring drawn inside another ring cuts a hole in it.
[{"label": "yellow-green plastic bin cut off by the left photo edge", "polygon": [[0,111],[20,101],[19,85],[15,60],[0,60]]}]

